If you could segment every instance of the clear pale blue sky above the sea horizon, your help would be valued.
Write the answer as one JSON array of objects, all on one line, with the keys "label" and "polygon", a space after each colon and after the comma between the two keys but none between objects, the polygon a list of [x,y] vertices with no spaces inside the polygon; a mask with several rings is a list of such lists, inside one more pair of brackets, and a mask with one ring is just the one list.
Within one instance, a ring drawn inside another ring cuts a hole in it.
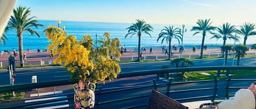
[{"label": "clear pale blue sky above the sea horizon", "polygon": [[256,23],[255,0],[18,0],[40,20],[195,24]]}]

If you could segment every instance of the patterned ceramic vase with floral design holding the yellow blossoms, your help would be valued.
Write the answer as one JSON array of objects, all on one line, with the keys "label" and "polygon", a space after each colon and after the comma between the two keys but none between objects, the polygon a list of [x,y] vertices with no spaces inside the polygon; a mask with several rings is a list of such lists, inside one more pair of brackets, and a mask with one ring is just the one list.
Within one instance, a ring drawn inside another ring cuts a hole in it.
[{"label": "patterned ceramic vase with floral design holding the yellow blossoms", "polygon": [[[81,81],[81,80],[79,80]],[[90,81],[85,81],[84,89],[81,89],[78,84],[74,84],[73,88],[75,91],[74,94],[74,104],[75,109],[92,109],[94,107],[94,89],[96,87],[95,84],[91,83]]]}]

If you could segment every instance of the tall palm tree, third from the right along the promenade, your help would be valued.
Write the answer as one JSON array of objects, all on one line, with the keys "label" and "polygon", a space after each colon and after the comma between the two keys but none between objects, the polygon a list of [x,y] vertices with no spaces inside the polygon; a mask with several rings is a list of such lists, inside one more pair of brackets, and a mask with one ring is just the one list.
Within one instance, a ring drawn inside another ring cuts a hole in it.
[{"label": "tall palm tree, third from the right along the promenade", "polygon": [[197,31],[193,34],[193,36],[196,34],[199,34],[199,33],[203,34],[203,39],[202,39],[202,43],[201,43],[201,53],[200,53],[200,58],[203,58],[206,33],[208,33],[208,32],[212,33],[212,31],[215,30],[216,27],[211,26],[212,22],[210,22],[210,19],[198,20],[197,24],[198,24],[198,26],[192,27],[191,31]]}]

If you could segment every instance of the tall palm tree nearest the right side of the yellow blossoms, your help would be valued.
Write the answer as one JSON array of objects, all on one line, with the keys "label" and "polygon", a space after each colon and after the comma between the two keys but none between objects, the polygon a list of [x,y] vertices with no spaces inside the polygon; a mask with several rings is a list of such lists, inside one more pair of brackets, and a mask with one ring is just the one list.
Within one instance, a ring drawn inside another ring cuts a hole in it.
[{"label": "tall palm tree nearest the right side of the yellow blossoms", "polygon": [[[128,30],[128,34],[125,36],[130,36],[132,37],[133,35],[136,35],[139,37],[139,42],[138,42],[138,61],[140,61],[140,39],[142,33],[150,35],[148,32],[153,32],[153,28],[151,27],[150,24],[147,24],[144,20],[136,20],[135,23],[133,23],[130,27],[126,28]],[[150,35],[151,37],[151,35]]]}]

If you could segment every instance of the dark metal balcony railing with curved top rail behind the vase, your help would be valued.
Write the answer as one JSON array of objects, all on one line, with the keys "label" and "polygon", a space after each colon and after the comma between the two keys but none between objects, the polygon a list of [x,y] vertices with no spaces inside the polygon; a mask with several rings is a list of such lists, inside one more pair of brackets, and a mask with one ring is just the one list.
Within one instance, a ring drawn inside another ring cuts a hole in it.
[{"label": "dark metal balcony railing with curved top rail behind the vase", "polygon": [[[199,71],[211,71],[211,70],[216,70],[218,71],[215,75],[215,78],[213,80],[201,80],[201,81],[183,81],[183,82],[173,82],[171,78],[169,78],[169,73],[176,73],[176,72],[199,72]],[[145,88],[150,88],[150,89],[157,89],[159,92],[165,93],[166,95],[172,94],[172,93],[184,93],[184,92],[197,92],[197,91],[212,91],[211,95],[203,95],[203,96],[197,96],[195,97],[187,97],[187,98],[175,98],[175,100],[180,101],[180,102],[186,102],[189,100],[201,100],[201,99],[206,99],[206,100],[211,100],[214,101],[218,95],[217,91],[219,89],[218,87],[218,77],[223,76],[221,75],[221,71],[226,71],[225,76],[227,76],[227,86],[225,87],[226,93],[225,96],[229,98],[232,93],[229,93],[229,89],[239,89],[239,88],[246,88],[246,87],[230,87],[230,82],[231,81],[255,81],[256,79],[231,79],[230,75],[230,70],[256,70],[256,67],[246,67],[246,66],[220,66],[220,67],[188,67],[188,68],[170,68],[170,69],[158,69],[158,70],[144,70],[140,72],[129,72],[129,73],[121,73],[118,78],[130,78],[134,76],[145,76],[145,75],[155,75],[156,79],[152,80],[153,84],[147,84],[147,85],[135,85],[135,86],[124,86],[124,87],[114,87],[114,88],[102,88],[102,87],[97,87],[96,89],[96,108],[100,108],[101,105],[107,105],[107,104],[115,104],[117,102],[123,102],[123,101],[129,101],[132,102],[133,100],[136,99],[141,99],[141,98],[148,98],[150,96],[150,93],[148,94],[141,94],[141,95],[134,95],[133,97],[123,97],[119,99],[104,99],[105,101],[100,101],[101,95],[106,95],[110,93],[118,93],[122,91],[130,91],[133,93],[134,90],[136,89],[145,89]],[[166,74],[165,82],[163,80],[159,79],[160,74]],[[177,85],[189,85],[189,84],[202,84],[206,82],[211,82],[213,83],[212,86],[209,87],[200,87],[200,88],[193,88],[193,89],[179,89],[172,91],[171,86],[177,86]],[[4,92],[21,92],[21,91],[28,91],[31,89],[37,89],[37,88],[45,88],[45,87],[53,87],[53,86],[62,86],[62,85],[71,85],[75,84],[75,82],[69,81],[69,80],[56,80],[56,81],[47,81],[47,82],[38,82],[34,84],[20,84],[20,85],[14,85],[14,86],[2,86],[0,87],[0,93]],[[166,88],[166,89],[163,89]],[[45,97],[38,97],[38,98],[49,98],[49,97],[61,97],[63,95],[66,95],[66,98],[61,98],[61,99],[54,99],[54,100],[44,100],[44,101],[35,101],[35,102],[25,102],[23,104],[17,104],[17,105],[9,105],[9,106],[1,106],[0,108],[17,108],[17,107],[27,107],[27,106],[33,106],[33,105],[40,105],[40,104],[45,104],[47,102],[55,102],[55,101],[62,101],[62,100],[73,100],[73,95],[74,93],[65,93],[65,94],[57,94],[57,95],[51,95],[51,96],[45,96]],[[146,102],[142,104],[130,104],[130,105],[123,105],[122,108],[135,108],[135,107],[144,107],[146,106]],[[69,106],[69,108],[73,108],[74,106]]]}]

